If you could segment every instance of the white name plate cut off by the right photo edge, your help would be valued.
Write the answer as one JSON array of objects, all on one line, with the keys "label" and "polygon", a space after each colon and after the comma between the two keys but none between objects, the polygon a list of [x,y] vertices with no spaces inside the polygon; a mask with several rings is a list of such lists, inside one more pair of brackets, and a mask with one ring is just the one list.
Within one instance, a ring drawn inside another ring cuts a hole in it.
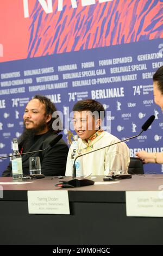
[{"label": "white name plate cut off by the right photo edge", "polygon": [[162,191],[126,191],[127,216],[163,217]]}]

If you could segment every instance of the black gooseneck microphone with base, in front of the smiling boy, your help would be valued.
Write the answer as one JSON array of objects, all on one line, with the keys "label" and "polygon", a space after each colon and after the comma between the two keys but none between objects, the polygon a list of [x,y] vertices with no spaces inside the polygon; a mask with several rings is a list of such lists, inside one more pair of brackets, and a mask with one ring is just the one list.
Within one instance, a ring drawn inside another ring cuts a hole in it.
[{"label": "black gooseneck microphone with base, in front of the smiling boy", "polygon": [[82,179],[82,180],[74,179],[74,178],[76,178],[76,165],[75,165],[75,163],[76,163],[76,160],[78,159],[78,157],[84,156],[84,155],[87,155],[87,154],[90,154],[90,153],[93,153],[93,152],[96,152],[97,150],[100,150],[100,149],[108,148],[108,147],[110,147],[112,145],[115,145],[115,144],[118,144],[118,143],[121,143],[121,142],[124,142],[124,141],[128,141],[128,139],[136,138],[136,137],[140,136],[143,131],[147,131],[149,126],[153,123],[154,119],[155,119],[155,116],[151,115],[151,117],[149,117],[147,119],[147,121],[142,125],[142,127],[141,127],[142,131],[138,135],[135,135],[135,136],[123,139],[122,141],[118,141],[118,142],[112,143],[110,145],[107,145],[107,146],[105,146],[103,148],[99,148],[99,149],[96,149],[96,150],[93,150],[93,151],[90,151],[90,152],[87,152],[85,154],[77,156],[76,159],[74,160],[74,163],[73,163],[73,175],[72,175],[73,179],[70,180],[70,181],[67,181],[66,183],[70,184],[70,185],[73,185],[73,187],[81,187],[81,186],[93,185],[95,182],[92,181],[92,180],[88,180],[88,179]]}]

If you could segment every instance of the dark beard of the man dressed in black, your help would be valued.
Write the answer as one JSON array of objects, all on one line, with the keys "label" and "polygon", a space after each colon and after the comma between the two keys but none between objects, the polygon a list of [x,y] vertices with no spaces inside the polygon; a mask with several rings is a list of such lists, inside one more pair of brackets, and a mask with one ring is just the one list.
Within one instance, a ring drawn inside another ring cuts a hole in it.
[{"label": "dark beard of the man dressed in black", "polygon": [[26,140],[31,141],[36,135],[39,135],[41,131],[45,130],[46,126],[47,126],[47,123],[45,121],[42,121],[42,123],[37,127],[32,129],[27,129],[24,123],[23,133],[20,137],[21,141],[26,141]]}]

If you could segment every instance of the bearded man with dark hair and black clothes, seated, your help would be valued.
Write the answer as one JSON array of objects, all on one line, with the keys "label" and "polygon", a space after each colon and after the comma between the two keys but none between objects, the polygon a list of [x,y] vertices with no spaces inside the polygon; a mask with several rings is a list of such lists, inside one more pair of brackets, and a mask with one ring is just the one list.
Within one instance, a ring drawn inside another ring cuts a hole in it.
[{"label": "bearded man with dark hair and black clothes, seated", "polygon": [[[21,153],[45,149],[58,136],[59,126],[55,125],[58,119],[53,118],[55,105],[45,96],[35,95],[26,106],[23,120],[24,131],[18,140]],[[53,124],[53,127],[52,127]],[[54,128],[54,129],[53,129]],[[39,156],[41,173],[47,176],[65,175],[68,147],[63,139],[47,150],[22,156],[23,175],[29,174],[29,157]],[[12,176],[11,162],[2,176]]]}]

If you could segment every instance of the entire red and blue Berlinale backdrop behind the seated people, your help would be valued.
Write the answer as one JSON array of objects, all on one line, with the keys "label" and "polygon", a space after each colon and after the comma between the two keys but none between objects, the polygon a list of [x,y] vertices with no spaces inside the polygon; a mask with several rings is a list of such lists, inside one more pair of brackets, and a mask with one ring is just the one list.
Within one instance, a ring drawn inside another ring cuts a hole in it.
[{"label": "entire red and blue Berlinale backdrop behind the seated people", "polygon": [[[139,150],[163,151],[152,81],[163,65],[161,1],[22,1],[20,10],[11,2],[4,3],[12,5],[8,23],[18,13],[20,33],[10,27],[14,47],[8,35],[0,38],[0,156],[12,153],[12,138],[20,137],[24,109],[36,94],[57,106],[68,144],[74,103],[92,98],[105,108],[103,129],[120,139],[138,134],[154,114],[148,131],[127,145],[132,157]],[[9,159],[0,163],[1,175]],[[163,165],[147,164],[145,171],[162,173]]]}]

